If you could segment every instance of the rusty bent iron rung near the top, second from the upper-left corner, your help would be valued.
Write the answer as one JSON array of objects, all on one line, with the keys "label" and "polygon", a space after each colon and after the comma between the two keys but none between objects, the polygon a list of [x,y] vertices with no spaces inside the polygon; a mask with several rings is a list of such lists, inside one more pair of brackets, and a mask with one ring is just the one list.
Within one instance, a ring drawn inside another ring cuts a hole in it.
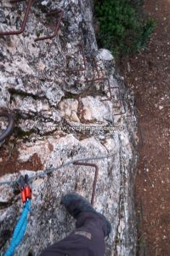
[{"label": "rusty bent iron rung near the top, second from the upper-left corner", "polygon": [[42,40],[46,40],[46,39],[52,39],[52,38],[55,38],[55,37],[57,36],[57,34],[58,34],[58,32],[59,32],[59,27],[60,27],[60,25],[61,25],[61,20],[62,20],[62,18],[63,18],[63,16],[64,16],[64,10],[62,10],[62,9],[57,9],[57,10],[51,11],[50,13],[48,13],[48,14],[46,15],[46,17],[49,17],[49,16],[51,16],[51,15],[56,15],[56,14],[60,14],[60,15],[59,15],[59,19],[57,19],[57,24],[56,24],[56,26],[55,26],[55,28],[54,28],[54,33],[53,33],[52,35],[43,36],[43,37],[41,37],[41,38],[36,38],[36,39],[35,39],[35,42],[37,42],[37,41],[42,41]]}]

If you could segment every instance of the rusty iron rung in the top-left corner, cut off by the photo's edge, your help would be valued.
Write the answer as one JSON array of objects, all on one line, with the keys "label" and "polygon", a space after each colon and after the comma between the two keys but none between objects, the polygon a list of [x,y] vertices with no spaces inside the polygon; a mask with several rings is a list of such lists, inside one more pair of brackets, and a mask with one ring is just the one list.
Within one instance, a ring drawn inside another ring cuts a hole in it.
[{"label": "rusty iron rung in the top-left corner, cut off by the photo's edge", "polygon": [[[26,1],[26,0],[13,0],[11,1],[11,3],[18,3],[21,1]],[[31,10],[31,4],[32,4],[33,0],[29,0],[27,3],[27,7],[26,7],[26,14],[24,16],[24,20],[22,21],[22,25],[20,30],[15,30],[15,31],[6,31],[6,32],[0,32],[0,36],[10,36],[10,35],[20,35],[21,33],[23,33],[25,31],[26,28],[26,22],[28,20],[28,15],[30,13]]]}]

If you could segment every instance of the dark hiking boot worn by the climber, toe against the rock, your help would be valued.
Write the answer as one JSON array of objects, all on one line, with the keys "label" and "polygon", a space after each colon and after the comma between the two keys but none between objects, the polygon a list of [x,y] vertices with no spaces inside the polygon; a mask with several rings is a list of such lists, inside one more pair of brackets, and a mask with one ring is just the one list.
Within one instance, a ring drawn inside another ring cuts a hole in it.
[{"label": "dark hiking boot worn by the climber, toe against the rock", "polygon": [[67,212],[71,214],[73,218],[78,218],[81,212],[94,212],[100,218],[102,218],[106,224],[106,233],[105,236],[109,236],[111,233],[111,223],[105,216],[96,210],[91,204],[84,198],[82,195],[78,195],[77,193],[71,193],[63,196],[61,199],[61,204],[65,206]]}]

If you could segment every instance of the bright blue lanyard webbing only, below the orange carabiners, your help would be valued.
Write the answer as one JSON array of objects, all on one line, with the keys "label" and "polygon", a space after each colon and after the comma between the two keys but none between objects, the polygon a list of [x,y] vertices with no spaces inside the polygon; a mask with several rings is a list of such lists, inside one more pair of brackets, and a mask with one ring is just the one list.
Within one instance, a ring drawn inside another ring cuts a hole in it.
[{"label": "bright blue lanyard webbing only, below the orange carabiners", "polygon": [[20,219],[14,229],[14,234],[13,234],[10,246],[8,247],[8,250],[4,254],[4,256],[13,256],[15,248],[19,246],[20,242],[24,238],[24,235],[26,232],[26,226],[27,226],[27,216],[30,210],[31,210],[31,201],[27,200],[23,208],[23,211],[21,213]]}]

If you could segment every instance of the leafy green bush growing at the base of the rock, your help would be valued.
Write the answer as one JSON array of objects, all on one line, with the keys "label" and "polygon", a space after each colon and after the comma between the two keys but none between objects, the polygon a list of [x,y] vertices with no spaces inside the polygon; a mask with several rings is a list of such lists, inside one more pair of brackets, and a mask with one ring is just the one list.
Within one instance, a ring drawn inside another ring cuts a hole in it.
[{"label": "leafy green bush growing at the base of the rock", "polygon": [[155,28],[154,20],[137,14],[132,0],[97,1],[94,9],[99,46],[111,49],[114,55],[143,49]]}]

